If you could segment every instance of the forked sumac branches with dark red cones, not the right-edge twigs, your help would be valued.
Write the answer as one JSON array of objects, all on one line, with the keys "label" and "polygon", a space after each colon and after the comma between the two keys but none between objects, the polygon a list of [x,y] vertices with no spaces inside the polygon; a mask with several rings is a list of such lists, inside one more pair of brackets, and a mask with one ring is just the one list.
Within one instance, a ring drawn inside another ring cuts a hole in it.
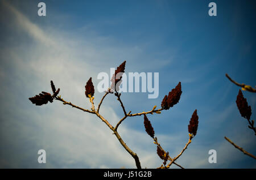
[{"label": "forked sumac branches with dark red cones, not the right-edge twigs", "polygon": [[[132,114],[131,111],[129,111],[127,113],[125,105],[121,100],[121,93],[118,93],[119,85],[122,82],[122,74],[125,72],[125,65],[126,65],[126,61],[124,61],[120,66],[116,68],[115,73],[113,74],[113,77],[110,80],[112,84],[108,89],[108,91],[106,91],[104,96],[101,98],[97,108],[95,108],[96,106],[94,105],[94,101],[93,101],[95,91],[94,91],[92,78],[89,78],[88,82],[85,85],[85,96],[89,98],[89,101],[91,104],[90,110],[81,108],[80,106],[72,104],[72,102],[65,101],[61,96],[57,96],[60,92],[60,88],[58,88],[56,91],[55,85],[53,84],[52,81],[51,81],[52,95],[51,93],[43,91],[42,93],[39,93],[39,95],[30,97],[29,100],[32,102],[32,104],[35,104],[38,106],[47,104],[48,102],[53,102],[53,100],[57,100],[57,101],[63,102],[64,105],[69,105],[69,106],[72,106],[72,108],[77,108],[82,110],[83,112],[96,115],[98,118],[101,119],[102,122],[106,124],[106,126],[110,128],[110,130],[113,131],[113,134],[117,137],[119,143],[121,143],[123,148],[125,148],[125,150],[134,158],[135,165],[137,166],[138,169],[141,169],[141,162],[139,161],[139,157],[137,153],[135,153],[130,149],[130,147],[128,147],[128,145],[123,141],[123,139],[121,138],[121,135],[117,130],[118,130],[118,127],[121,125],[123,121],[125,121],[126,118],[143,115],[145,130],[147,134],[150,135],[150,137],[153,139],[154,144],[156,144],[157,155],[163,160],[163,164],[159,168],[170,168],[172,164],[175,164],[180,168],[183,168],[181,165],[177,164],[175,161],[177,160],[177,158],[179,158],[183,154],[185,149],[187,149],[188,145],[191,143],[192,138],[196,135],[197,127],[198,127],[198,119],[199,119],[197,115],[197,110],[193,112],[191,120],[189,121],[189,125],[188,125],[189,139],[187,144],[185,144],[185,147],[181,149],[181,152],[176,157],[172,158],[169,152],[164,151],[164,149],[158,142],[158,139],[155,137],[154,128],[152,127],[151,122],[147,118],[147,114],[161,114],[163,110],[168,110],[172,108],[174,105],[176,105],[179,102],[180,96],[182,93],[181,82],[179,82],[176,85],[176,87],[168,93],[168,95],[164,96],[162,100],[162,104],[160,105],[161,108],[156,109],[156,106],[154,106],[151,110],[148,110],[147,112]],[[100,114],[100,108],[101,108],[102,102],[104,101],[106,96],[111,94],[117,97],[117,100],[119,101],[119,104],[121,105],[122,111],[123,111],[123,118],[121,118],[120,121],[115,126],[111,125],[108,119],[105,119],[104,116]],[[169,163],[167,164],[168,161]]]}]

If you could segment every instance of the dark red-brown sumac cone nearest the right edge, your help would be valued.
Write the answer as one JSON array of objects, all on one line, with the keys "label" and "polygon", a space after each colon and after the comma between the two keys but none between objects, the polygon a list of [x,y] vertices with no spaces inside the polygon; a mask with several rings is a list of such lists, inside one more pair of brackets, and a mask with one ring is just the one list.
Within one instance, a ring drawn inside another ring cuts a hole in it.
[{"label": "dark red-brown sumac cone nearest the right edge", "polygon": [[251,106],[248,106],[247,100],[243,97],[243,93],[240,89],[237,95],[236,103],[241,116],[249,120],[251,118]]}]

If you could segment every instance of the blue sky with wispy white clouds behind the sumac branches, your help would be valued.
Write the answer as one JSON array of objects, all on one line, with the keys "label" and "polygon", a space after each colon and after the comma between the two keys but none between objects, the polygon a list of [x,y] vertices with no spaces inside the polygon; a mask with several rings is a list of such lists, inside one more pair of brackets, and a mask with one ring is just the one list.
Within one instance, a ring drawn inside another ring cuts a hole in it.
[{"label": "blue sky with wispy white clouds behind the sumac branches", "polygon": [[[40,1],[0,2],[1,168],[135,168],[134,160],[96,116],[64,106],[44,106],[28,97],[51,92],[90,109],[84,85],[124,60],[126,72],[159,72],[159,97],[122,93],[132,113],[160,107],[178,82],[179,104],[148,115],[155,135],[172,157],[188,140],[195,109],[199,129],[177,162],[185,168],[256,168],[224,139],[228,136],[256,154],[255,136],[236,106],[237,82],[255,85],[256,12],[252,1],[213,1],[217,16],[208,15],[211,1],[43,1],[47,16],[37,14]],[[95,102],[103,94],[96,91]],[[256,97],[244,92],[255,119]],[[123,112],[114,96],[102,104],[102,115],[117,123]],[[142,167],[162,160],[146,134],[142,117],[127,118],[119,133]],[[37,162],[45,149],[47,163]],[[217,151],[209,164],[208,151]],[[175,165],[172,168],[177,168]]]}]

